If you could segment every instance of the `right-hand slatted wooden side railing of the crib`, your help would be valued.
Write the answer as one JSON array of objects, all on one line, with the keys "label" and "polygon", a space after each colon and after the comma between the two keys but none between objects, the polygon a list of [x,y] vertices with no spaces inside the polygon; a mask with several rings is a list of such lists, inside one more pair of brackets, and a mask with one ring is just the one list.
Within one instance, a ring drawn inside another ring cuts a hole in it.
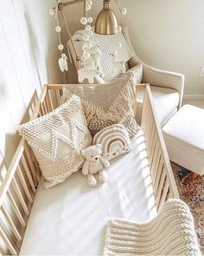
[{"label": "right-hand slatted wooden side railing of the crib", "polygon": [[160,207],[163,207],[163,203],[166,200],[179,198],[179,193],[170,166],[162,129],[157,121],[149,85],[146,85],[144,90],[141,126],[146,142],[153,191],[158,210]]}]

